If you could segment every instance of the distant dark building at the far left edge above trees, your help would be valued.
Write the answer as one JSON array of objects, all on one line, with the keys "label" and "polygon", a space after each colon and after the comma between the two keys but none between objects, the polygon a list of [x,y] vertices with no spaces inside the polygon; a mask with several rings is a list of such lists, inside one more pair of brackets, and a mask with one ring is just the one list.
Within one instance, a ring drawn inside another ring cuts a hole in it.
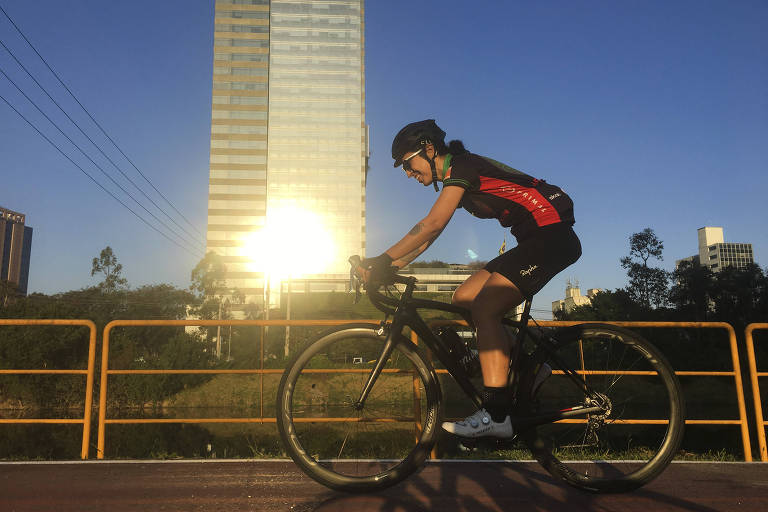
[{"label": "distant dark building at the far left edge above trees", "polygon": [[0,206],[0,281],[14,283],[27,294],[32,228],[24,225],[25,215]]}]

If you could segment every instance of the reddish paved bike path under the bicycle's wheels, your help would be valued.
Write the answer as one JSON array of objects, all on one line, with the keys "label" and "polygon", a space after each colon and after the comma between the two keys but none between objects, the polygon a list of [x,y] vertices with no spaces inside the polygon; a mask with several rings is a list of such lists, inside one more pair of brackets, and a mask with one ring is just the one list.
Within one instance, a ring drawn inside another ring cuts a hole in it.
[{"label": "reddish paved bike path under the bicycle's wheels", "polygon": [[0,463],[4,512],[768,510],[768,464],[674,463],[646,487],[592,495],[530,462],[431,462],[370,495],[333,492],[290,461]]}]

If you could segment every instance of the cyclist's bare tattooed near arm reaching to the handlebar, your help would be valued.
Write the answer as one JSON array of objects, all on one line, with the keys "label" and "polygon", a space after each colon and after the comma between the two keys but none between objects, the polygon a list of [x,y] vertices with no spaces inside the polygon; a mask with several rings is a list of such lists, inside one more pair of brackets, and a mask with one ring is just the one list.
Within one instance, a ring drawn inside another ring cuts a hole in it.
[{"label": "cyclist's bare tattooed near arm reaching to the handlebar", "polygon": [[399,242],[387,249],[392,264],[402,268],[424,252],[445,229],[463,195],[464,189],[461,187],[443,187],[429,214]]}]

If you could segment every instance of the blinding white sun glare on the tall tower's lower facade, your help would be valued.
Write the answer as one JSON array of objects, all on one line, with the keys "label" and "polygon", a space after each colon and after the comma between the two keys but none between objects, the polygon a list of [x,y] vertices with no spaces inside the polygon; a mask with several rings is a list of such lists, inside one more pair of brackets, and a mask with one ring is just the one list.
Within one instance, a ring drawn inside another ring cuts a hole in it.
[{"label": "blinding white sun glare on the tall tower's lower facade", "polygon": [[270,281],[327,272],[335,257],[333,238],[314,212],[296,207],[270,208],[266,226],[243,242],[251,272]]}]

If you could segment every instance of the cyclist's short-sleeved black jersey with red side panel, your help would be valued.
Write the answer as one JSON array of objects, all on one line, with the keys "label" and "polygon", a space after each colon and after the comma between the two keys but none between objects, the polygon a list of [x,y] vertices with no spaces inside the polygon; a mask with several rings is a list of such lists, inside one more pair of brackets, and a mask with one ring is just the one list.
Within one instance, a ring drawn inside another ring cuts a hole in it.
[{"label": "cyclist's short-sleeved black jersey with red side panel", "polygon": [[574,223],[573,201],[560,187],[473,153],[453,157],[450,166],[443,186],[466,190],[459,206],[475,217],[498,219],[518,241]]}]

